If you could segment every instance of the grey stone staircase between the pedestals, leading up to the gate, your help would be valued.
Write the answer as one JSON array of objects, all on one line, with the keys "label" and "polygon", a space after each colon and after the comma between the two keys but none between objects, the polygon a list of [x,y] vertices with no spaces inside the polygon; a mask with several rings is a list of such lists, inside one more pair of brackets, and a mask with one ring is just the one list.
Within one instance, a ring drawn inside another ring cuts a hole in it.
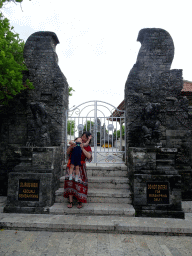
[{"label": "grey stone staircase between the pedestals, leading up to the gate", "polygon": [[63,197],[65,179],[63,176],[60,178],[60,188],[56,191],[55,204],[49,207],[50,214],[135,216],[125,165],[87,164],[87,174],[88,203],[83,204],[81,209],[76,205],[70,209],[67,207],[68,199]]}]

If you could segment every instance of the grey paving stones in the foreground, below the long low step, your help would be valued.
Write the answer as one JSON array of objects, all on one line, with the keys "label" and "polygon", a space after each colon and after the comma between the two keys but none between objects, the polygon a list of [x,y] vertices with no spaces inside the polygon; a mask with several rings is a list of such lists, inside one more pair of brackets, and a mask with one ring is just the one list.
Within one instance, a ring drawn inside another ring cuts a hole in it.
[{"label": "grey paving stones in the foreground, below the long low step", "polygon": [[1,230],[0,255],[183,256],[192,255],[192,237]]}]

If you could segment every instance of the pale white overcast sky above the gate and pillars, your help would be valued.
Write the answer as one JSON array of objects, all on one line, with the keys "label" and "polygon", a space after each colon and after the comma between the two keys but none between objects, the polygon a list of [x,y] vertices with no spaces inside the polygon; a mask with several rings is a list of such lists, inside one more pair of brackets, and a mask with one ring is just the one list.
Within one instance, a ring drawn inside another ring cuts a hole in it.
[{"label": "pale white overcast sky above the gate and pillars", "polygon": [[121,103],[143,28],[170,33],[171,68],[192,81],[191,0],[24,0],[6,4],[3,13],[24,41],[37,31],[57,34],[59,66],[75,90],[69,107],[88,100]]}]

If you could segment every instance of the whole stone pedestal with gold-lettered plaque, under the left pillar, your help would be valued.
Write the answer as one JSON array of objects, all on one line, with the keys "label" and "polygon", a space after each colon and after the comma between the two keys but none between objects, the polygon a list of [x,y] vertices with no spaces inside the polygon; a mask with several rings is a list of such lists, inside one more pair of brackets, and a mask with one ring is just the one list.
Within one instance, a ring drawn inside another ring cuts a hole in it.
[{"label": "whole stone pedestal with gold-lettered plaque, under the left pillar", "polygon": [[61,147],[20,148],[22,162],[9,173],[4,212],[47,213],[61,177]]}]

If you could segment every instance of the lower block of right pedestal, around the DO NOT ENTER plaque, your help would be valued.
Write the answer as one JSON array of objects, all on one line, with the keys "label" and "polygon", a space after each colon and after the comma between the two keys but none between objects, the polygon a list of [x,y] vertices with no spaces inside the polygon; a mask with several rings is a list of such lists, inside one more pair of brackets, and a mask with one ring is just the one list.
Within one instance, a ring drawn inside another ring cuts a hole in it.
[{"label": "lower block of right pedestal, around the DO NOT ENTER plaque", "polygon": [[[167,184],[167,190],[158,190],[158,185]],[[156,184],[151,190],[148,184]],[[156,201],[149,201],[150,194]],[[165,197],[158,197],[163,194]],[[159,202],[161,199],[162,203]],[[181,208],[181,176],[180,175],[134,175],[134,208],[136,217],[185,218]]]}]

